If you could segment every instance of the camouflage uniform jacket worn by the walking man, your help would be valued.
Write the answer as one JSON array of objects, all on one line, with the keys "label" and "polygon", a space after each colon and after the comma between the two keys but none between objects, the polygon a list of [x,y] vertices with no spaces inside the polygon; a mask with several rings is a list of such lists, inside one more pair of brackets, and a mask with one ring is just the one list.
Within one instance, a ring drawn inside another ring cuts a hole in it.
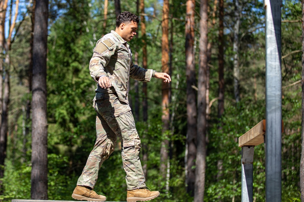
[{"label": "camouflage uniform jacket worn by the walking man", "polygon": [[149,82],[152,77],[152,69],[134,65],[130,46],[113,30],[97,41],[93,51],[89,66],[91,77],[98,83],[98,78],[105,75],[112,82],[109,89],[97,84],[96,92],[116,92],[120,101],[129,104],[129,78]]}]

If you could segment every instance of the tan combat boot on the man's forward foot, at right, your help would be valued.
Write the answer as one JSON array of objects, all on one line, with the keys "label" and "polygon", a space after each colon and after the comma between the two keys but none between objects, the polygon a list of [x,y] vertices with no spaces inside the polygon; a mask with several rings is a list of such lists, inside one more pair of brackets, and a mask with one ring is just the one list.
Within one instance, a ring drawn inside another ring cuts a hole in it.
[{"label": "tan combat boot on the man's forward foot, at right", "polygon": [[150,191],[146,188],[134,189],[127,192],[127,202],[146,201],[159,196],[158,191]]}]

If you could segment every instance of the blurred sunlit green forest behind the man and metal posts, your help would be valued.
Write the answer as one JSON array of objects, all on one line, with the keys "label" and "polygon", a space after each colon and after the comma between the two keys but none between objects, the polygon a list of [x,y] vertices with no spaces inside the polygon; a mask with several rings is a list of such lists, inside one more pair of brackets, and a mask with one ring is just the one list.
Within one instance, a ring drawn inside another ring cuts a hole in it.
[{"label": "blurred sunlit green forest behind the man and metal posts", "polygon": [[[49,200],[72,200],[77,179],[95,143],[96,114],[92,99],[96,83],[89,75],[88,64],[98,39],[115,30],[117,12],[125,10],[141,18],[136,38],[129,42],[133,61],[140,66],[162,71],[162,35],[164,26],[168,28],[168,66],[172,82],[169,86],[167,122],[163,120],[162,82],[156,79],[147,84],[134,80],[130,82],[129,96],[142,141],[140,157],[147,176],[146,184],[151,190],[161,192],[154,201],[193,200],[191,173],[194,174],[195,157],[189,154],[195,154],[193,145],[196,145],[196,137],[191,136],[195,125],[189,124],[187,108],[189,101],[194,106],[197,102],[201,31],[200,2],[190,1],[194,6],[194,79],[190,83],[194,99],[189,100],[189,74],[186,74],[188,46],[185,45],[188,2],[169,1],[168,24],[162,24],[163,1],[124,0],[118,7],[117,0],[49,0]],[[1,13],[6,12],[6,15],[4,18],[2,14],[0,16],[6,40],[6,45],[1,46],[5,51],[0,56],[5,62],[1,65],[0,88],[6,89],[3,97],[1,93],[1,98],[2,106],[7,108],[8,122],[4,130],[7,141],[3,153],[4,165],[1,165],[4,173],[0,180],[0,200],[10,201],[31,198],[30,83],[35,1],[2,0],[2,9],[5,3],[7,8]],[[204,201],[241,200],[241,149],[238,147],[238,137],[265,118],[264,14],[261,0],[208,2],[209,81]],[[285,131],[282,134],[282,201],[300,201],[301,18],[301,1],[283,0],[282,119]],[[195,111],[193,116],[195,118]],[[3,147],[3,142],[1,144]],[[94,190],[107,196],[109,201],[125,201],[124,176],[121,152],[117,147],[102,165]],[[255,147],[254,153],[254,202],[264,199],[265,156],[264,144],[261,144]]]}]

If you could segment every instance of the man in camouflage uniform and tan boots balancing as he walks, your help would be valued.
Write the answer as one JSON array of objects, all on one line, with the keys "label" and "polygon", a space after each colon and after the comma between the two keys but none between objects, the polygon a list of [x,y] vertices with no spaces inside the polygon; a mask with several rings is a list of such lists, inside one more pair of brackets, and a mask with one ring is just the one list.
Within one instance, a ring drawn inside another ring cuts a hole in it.
[{"label": "man in camouflage uniform and tan boots balancing as he walks", "polygon": [[149,82],[151,77],[170,82],[167,73],[144,69],[134,65],[127,41],[135,35],[139,18],[130,13],[121,13],[116,20],[116,29],[97,41],[89,70],[97,82],[93,107],[96,116],[96,142],[85,168],[78,179],[72,197],[78,200],[105,201],[96,194],[98,171],[102,163],[114,151],[119,137],[122,146],[123,168],[126,171],[127,201],[146,201],[159,196],[158,191],[146,189],[145,176],[139,159],[140,138],[128,101],[129,78]]}]

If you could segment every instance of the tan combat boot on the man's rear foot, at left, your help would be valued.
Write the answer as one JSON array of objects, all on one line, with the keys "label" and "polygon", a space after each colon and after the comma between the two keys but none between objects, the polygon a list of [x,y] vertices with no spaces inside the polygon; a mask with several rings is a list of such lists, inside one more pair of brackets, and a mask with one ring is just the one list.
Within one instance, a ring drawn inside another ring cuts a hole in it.
[{"label": "tan combat boot on the man's rear foot, at left", "polygon": [[92,189],[78,185],[73,191],[72,198],[87,201],[105,201],[107,199],[105,196],[96,194]]}]

